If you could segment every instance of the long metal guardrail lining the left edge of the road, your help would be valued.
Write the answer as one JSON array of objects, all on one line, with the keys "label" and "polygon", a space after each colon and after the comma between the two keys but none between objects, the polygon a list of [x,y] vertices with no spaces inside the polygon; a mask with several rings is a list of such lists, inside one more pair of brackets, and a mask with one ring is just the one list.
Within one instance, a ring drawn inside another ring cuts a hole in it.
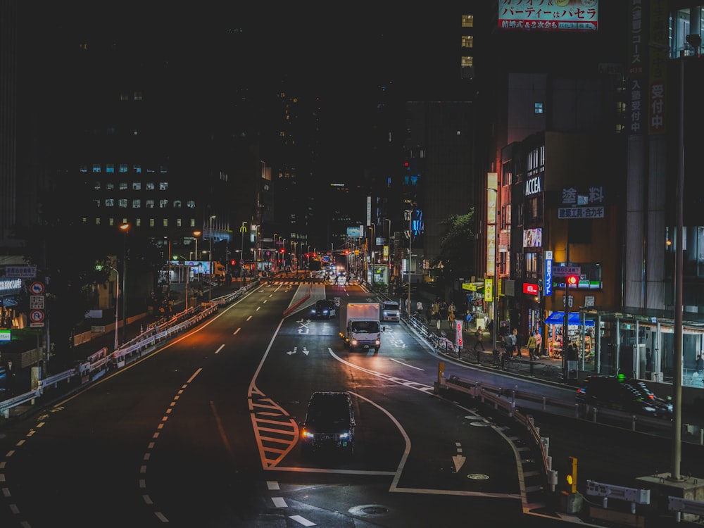
[{"label": "long metal guardrail lining the left edge of the road", "polygon": [[122,344],[120,348],[112,353],[108,353],[105,347],[101,348],[99,351],[91,354],[86,361],[78,363],[75,367],[40,379],[36,389],[0,401],[0,416],[7,419],[12,408],[25,403],[30,403],[30,405],[34,406],[37,398],[44,395],[46,390],[58,388],[58,384],[61,382],[71,382],[75,377],[80,380],[81,384],[86,384],[102,377],[111,368],[123,367],[127,363],[127,360],[133,356],[142,356],[145,352],[153,351],[161,341],[168,341],[168,339],[175,334],[183,332],[184,329],[197,325],[203,319],[217,312],[219,306],[227,306],[257,286],[258,281],[253,281],[247,284],[246,287],[234,291],[232,294],[213,299],[213,301],[209,303],[209,306],[189,308],[185,312],[174,315],[170,320],[149,325],[142,334]]}]

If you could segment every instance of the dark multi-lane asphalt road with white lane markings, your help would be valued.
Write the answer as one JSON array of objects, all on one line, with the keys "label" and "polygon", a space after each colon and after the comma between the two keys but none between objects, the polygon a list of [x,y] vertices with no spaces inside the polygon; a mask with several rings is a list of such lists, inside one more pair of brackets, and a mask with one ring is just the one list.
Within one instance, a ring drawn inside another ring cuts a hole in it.
[{"label": "dark multi-lane asphalt road with white lane markings", "polygon": [[[310,287],[310,302],[370,298],[359,287],[323,288]],[[350,352],[337,319],[309,320],[306,303],[282,317],[296,291],[293,283],[264,284],[139,363],[8,425],[0,434],[0,526],[551,527],[578,520],[556,513],[546,494],[527,500],[525,459],[533,455],[513,422],[477,402],[433,394],[446,358],[406,325],[387,325],[378,354]],[[448,363],[451,373],[477,375],[462,363]],[[301,456],[298,423],[319,390],[353,394],[351,460]],[[667,459],[657,437],[550,415],[545,427],[556,457],[599,453],[584,459],[587,475],[631,478],[639,468],[617,464],[624,460],[617,446],[632,463],[639,453]]]}]

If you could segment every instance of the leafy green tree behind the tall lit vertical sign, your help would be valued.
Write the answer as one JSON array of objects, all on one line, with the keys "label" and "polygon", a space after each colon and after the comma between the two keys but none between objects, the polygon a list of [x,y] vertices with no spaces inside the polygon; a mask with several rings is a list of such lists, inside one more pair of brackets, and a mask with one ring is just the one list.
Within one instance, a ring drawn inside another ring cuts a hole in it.
[{"label": "leafy green tree behind the tall lit vertical sign", "polygon": [[449,282],[474,275],[474,210],[452,215],[441,222],[445,227],[439,256],[431,265],[438,268],[441,279]]}]

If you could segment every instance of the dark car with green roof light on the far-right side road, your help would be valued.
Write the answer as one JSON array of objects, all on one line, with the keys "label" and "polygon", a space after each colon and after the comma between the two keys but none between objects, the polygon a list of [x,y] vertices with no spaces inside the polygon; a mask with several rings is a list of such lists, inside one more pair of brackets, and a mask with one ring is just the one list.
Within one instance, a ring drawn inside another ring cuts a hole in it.
[{"label": "dark car with green roof light on the far-right side road", "polygon": [[589,376],[577,389],[574,400],[624,413],[672,419],[672,403],[653,394],[643,382],[622,376]]}]

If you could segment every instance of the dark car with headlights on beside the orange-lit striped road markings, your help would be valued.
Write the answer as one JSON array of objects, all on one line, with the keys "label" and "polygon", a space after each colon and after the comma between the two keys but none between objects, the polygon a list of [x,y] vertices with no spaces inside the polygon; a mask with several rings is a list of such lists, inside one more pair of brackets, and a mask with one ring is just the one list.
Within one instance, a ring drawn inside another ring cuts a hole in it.
[{"label": "dark car with headlights on beside the orange-lit striped road markings", "polygon": [[303,455],[324,448],[354,453],[354,409],[348,392],[314,392],[301,423]]}]

